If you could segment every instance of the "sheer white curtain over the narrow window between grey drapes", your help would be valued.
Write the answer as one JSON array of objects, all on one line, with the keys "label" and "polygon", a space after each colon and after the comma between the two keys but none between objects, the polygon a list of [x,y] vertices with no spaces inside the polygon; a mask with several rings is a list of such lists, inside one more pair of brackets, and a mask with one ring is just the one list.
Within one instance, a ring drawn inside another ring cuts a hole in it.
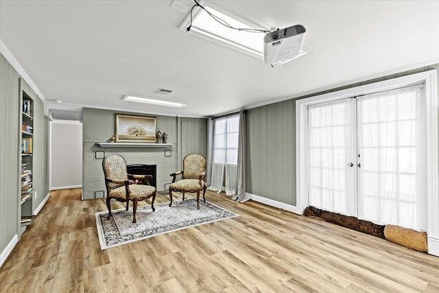
[{"label": "sheer white curtain over the narrow window between grey drapes", "polygon": [[234,196],[237,189],[239,115],[214,119],[210,190]]}]

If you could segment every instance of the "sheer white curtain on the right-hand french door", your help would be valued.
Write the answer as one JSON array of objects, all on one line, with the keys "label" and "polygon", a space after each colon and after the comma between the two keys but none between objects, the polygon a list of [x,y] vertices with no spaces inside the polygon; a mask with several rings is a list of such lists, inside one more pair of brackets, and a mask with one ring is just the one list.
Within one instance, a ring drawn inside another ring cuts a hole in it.
[{"label": "sheer white curtain on the right-hand french door", "polygon": [[427,229],[422,93],[411,86],[357,99],[361,219]]}]

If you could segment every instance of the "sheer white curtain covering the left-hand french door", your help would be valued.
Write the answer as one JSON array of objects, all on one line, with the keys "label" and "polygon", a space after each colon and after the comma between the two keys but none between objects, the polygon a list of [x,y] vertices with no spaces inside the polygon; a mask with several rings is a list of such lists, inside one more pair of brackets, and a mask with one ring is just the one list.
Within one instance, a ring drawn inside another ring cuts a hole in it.
[{"label": "sheer white curtain covering the left-hand french door", "polygon": [[356,215],[355,100],[309,106],[308,135],[309,205]]}]

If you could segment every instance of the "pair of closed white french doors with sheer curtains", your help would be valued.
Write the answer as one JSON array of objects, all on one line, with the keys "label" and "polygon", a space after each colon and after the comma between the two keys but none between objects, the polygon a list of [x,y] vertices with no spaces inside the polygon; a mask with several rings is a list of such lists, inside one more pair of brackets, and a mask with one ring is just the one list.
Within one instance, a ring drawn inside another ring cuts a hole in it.
[{"label": "pair of closed white french doors with sheer curtains", "polygon": [[423,117],[422,86],[309,106],[309,205],[425,231]]}]

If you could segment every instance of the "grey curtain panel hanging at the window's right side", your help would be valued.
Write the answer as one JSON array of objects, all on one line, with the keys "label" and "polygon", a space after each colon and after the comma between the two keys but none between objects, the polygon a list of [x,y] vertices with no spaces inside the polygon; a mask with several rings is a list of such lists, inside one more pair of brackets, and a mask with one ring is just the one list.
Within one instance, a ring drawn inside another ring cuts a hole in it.
[{"label": "grey curtain panel hanging at the window's right side", "polygon": [[237,190],[233,200],[241,202],[246,195],[246,110],[239,111]]}]

